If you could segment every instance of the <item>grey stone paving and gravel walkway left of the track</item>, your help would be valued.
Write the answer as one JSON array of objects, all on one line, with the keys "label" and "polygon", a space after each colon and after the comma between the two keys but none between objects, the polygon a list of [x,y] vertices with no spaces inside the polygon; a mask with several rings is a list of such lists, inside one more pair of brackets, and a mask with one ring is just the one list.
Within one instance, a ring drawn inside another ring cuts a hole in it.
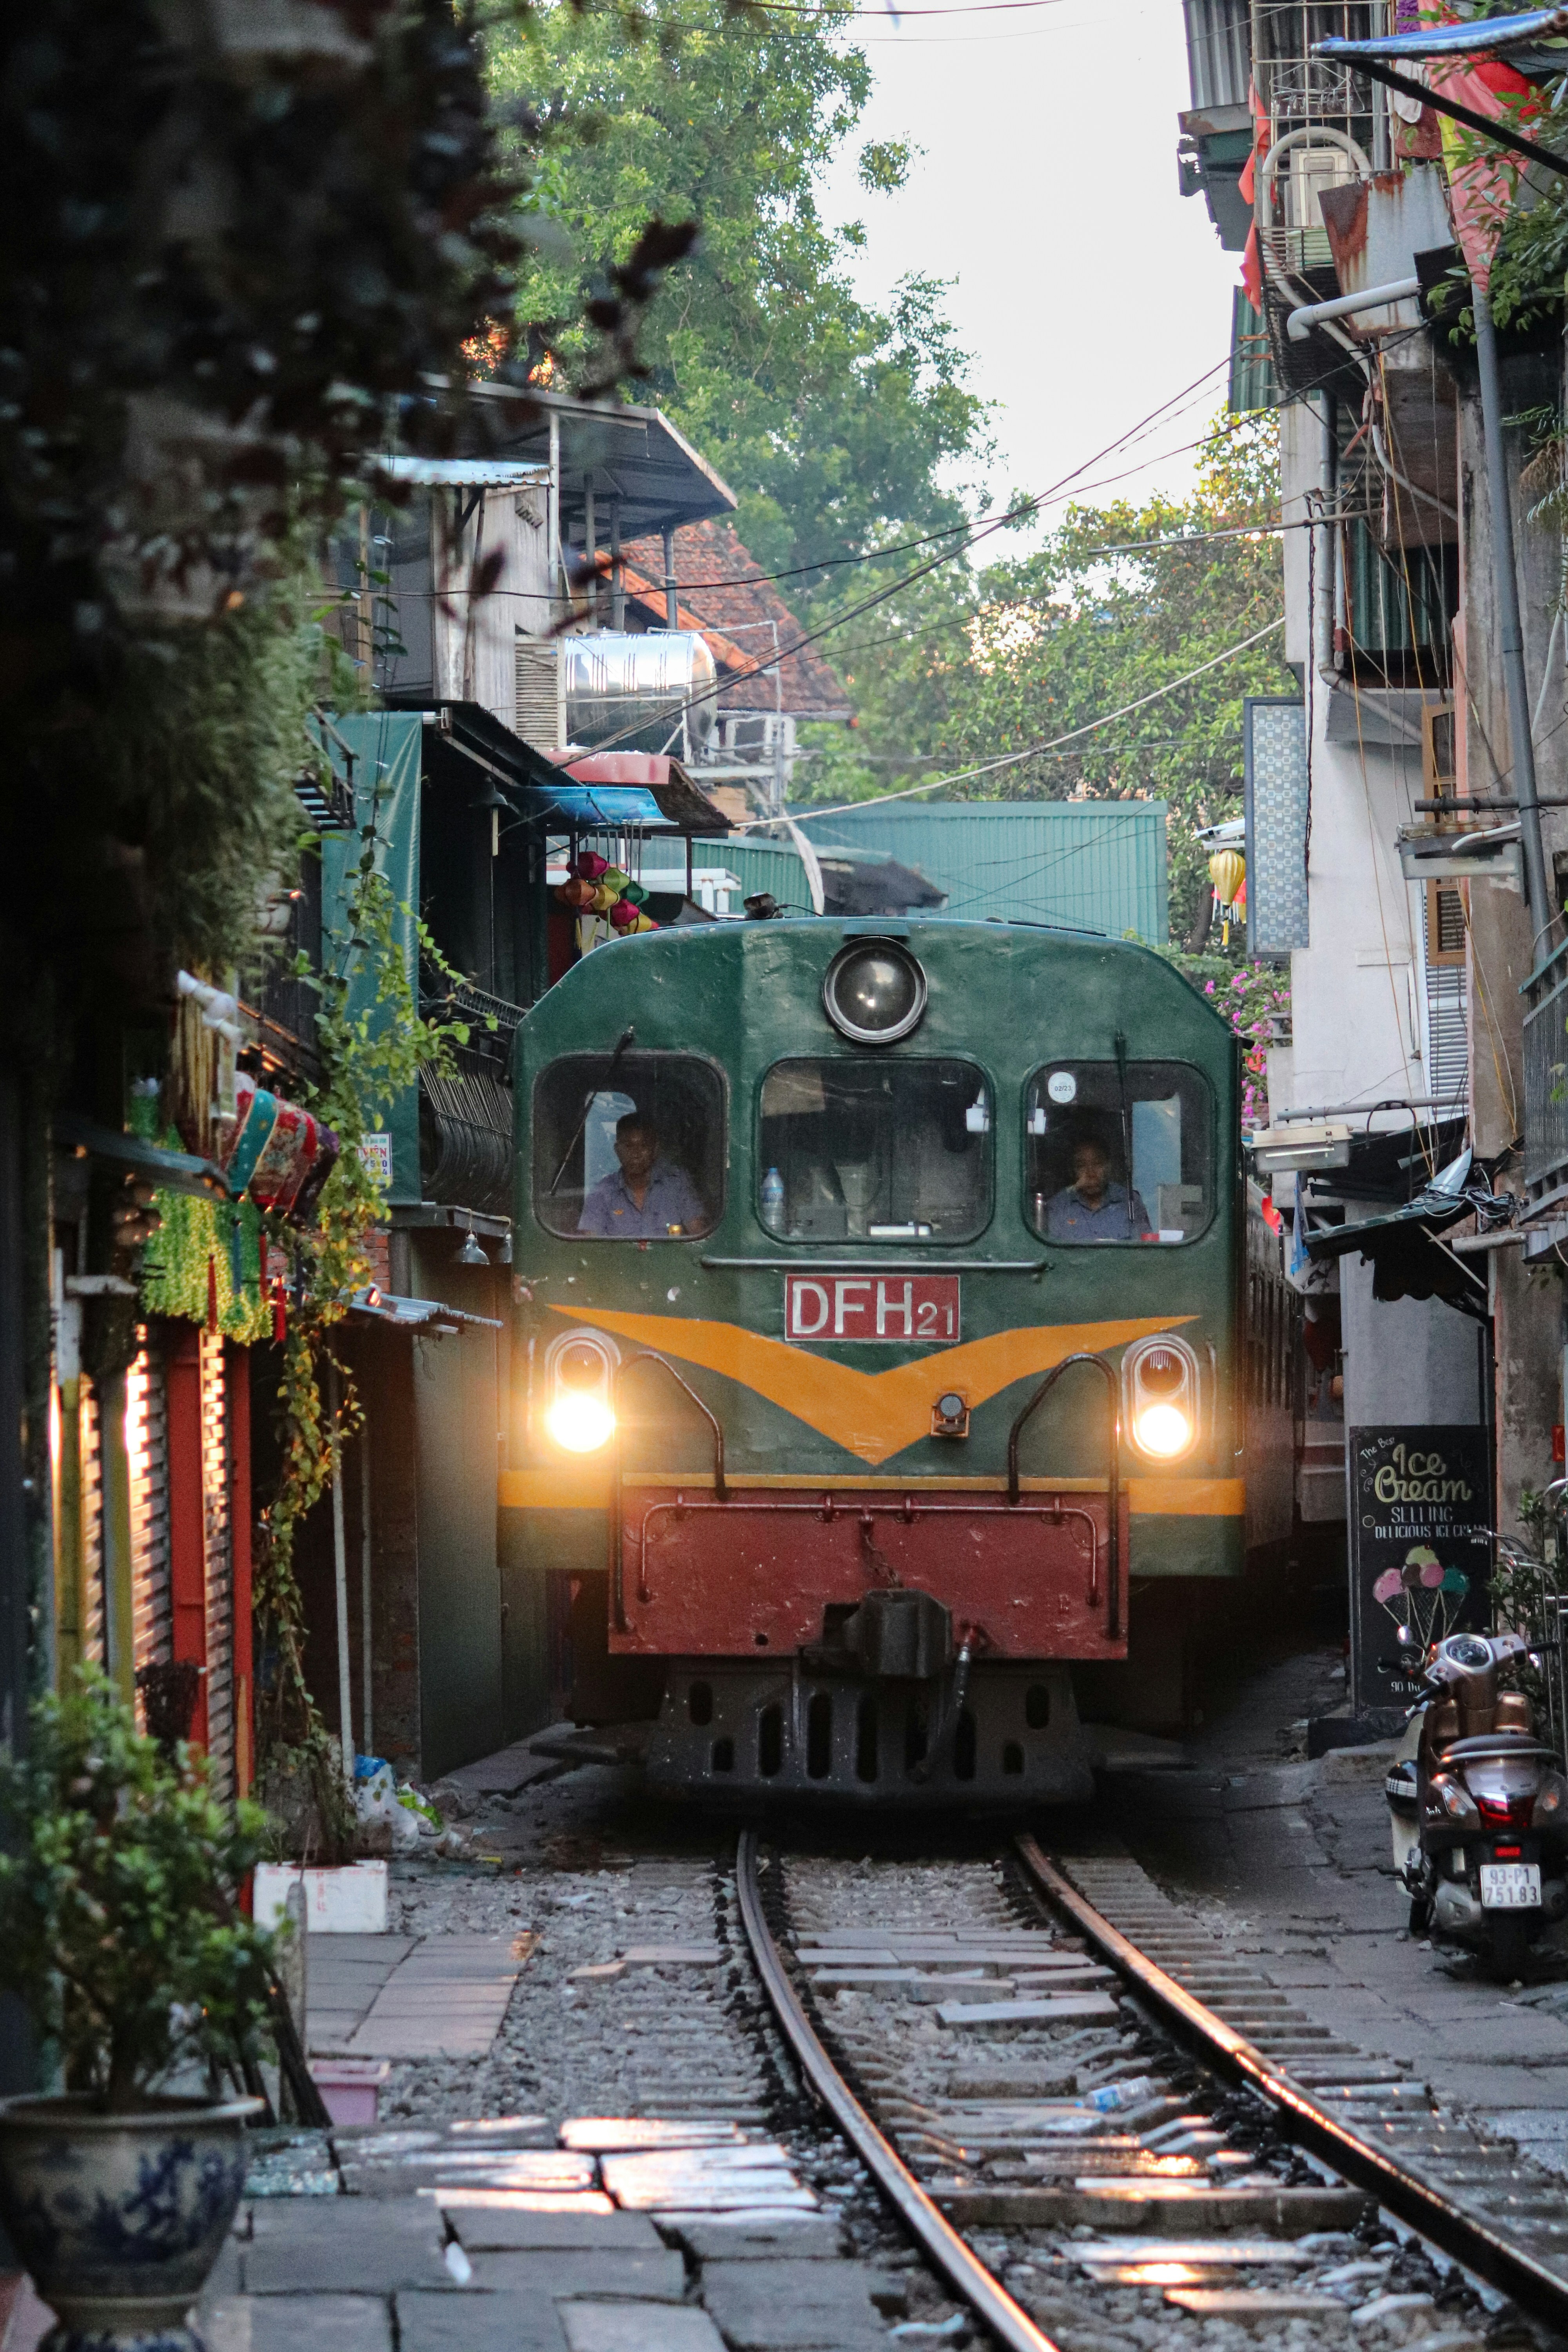
[{"label": "grey stone paving and gravel walkway left of the track", "polygon": [[[637,1851],[625,1795],[529,1788],[484,1825],[501,1872],[395,1867],[393,1933],[310,1938],[308,2046],[393,2060],[381,2122],[259,2136],[209,2352],[875,2352],[952,2319],[842,2143],[771,2136],[733,1839]],[[0,2352],[49,2324],[0,2286]]]}]

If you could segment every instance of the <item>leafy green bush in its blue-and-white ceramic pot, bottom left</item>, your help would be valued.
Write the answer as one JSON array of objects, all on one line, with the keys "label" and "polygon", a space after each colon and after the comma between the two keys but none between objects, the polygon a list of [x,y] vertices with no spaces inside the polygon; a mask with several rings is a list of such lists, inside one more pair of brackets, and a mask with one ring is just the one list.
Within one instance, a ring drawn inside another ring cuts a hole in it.
[{"label": "leafy green bush in its blue-and-white ceramic pot, bottom left", "polygon": [[[0,1985],[56,2089],[0,2100],[0,2218],[61,2319],[49,2352],[176,2352],[244,2187],[256,2098],[216,2096],[268,2013],[270,1936],[237,1912],[263,1813],[136,1731],[101,1675],[0,1762]],[[207,2096],[190,2096],[200,2086]]]}]

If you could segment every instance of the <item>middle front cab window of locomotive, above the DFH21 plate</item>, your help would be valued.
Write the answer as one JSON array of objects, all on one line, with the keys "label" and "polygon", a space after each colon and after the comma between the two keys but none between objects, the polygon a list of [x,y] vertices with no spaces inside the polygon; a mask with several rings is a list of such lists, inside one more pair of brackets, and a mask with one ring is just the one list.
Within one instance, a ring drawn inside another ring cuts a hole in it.
[{"label": "middle front cab window of locomotive, above the DFH21 plate", "polygon": [[990,1218],[992,1098],[969,1061],[780,1061],[757,1207],[785,1242],[969,1242]]}]

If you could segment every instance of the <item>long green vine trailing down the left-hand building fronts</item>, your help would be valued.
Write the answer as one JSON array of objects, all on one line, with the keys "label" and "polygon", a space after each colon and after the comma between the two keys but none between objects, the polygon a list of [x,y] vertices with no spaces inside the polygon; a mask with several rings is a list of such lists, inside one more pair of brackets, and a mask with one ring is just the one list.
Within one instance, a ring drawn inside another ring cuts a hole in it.
[{"label": "long green vine trailing down the left-hand building fronts", "polygon": [[[256,1616],[263,1642],[275,1644],[277,1672],[259,1705],[256,1745],[263,1773],[303,1783],[301,1792],[315,1811],[313,1835],[327,1860],[353,1851],[355,1818],[341,1755],[306,1672],[294,1555],[301,1522],[339,1477],[343,1444],[364,1418],[353,1371],[334,1352],[336,1324],[348,1315],[353,1294],[371,1282],[369,1235],[388,1216],[386,1195],[364,1157],[364,1138],[383,1124],[388,1103],[418,1084],[421,1070],[447,1068],[451,1047],[468,1042],[463,1021],[421,1014],[418,960],[451,981],[458,974],[376,866],[378,811],[374,800],[360,828],[360,861],[336,955],[322,971],[313,971],[303,955],[294,967],[296,978],[320,993],[315,1035],[322,1077],[310,1089],[310,1110],[317,1124],[339,1136],[339,1160],[308,1232],[268,1218],[268,1240],[289,1261],[289,1272],[277,1383],[280,1470],[259,1517],[254,1571]],[[414,924],[414,955],[400,938],[404,922]],[[322,1395],[327,1369],[339,1376],[336,1409]]]}]

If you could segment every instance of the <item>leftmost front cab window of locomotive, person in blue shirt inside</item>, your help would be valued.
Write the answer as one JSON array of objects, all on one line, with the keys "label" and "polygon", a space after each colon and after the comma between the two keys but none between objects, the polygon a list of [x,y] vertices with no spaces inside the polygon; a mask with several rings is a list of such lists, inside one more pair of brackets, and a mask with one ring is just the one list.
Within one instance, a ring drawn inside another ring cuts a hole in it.
[{"label": "leftmost front cab window of locomotive, person in blue shirt inside", "polygon": [[592,1242],[682,1242],[724,1209],[724,1080],[696,1054],[567,1054],[534,1084],[534,1216]]}]

